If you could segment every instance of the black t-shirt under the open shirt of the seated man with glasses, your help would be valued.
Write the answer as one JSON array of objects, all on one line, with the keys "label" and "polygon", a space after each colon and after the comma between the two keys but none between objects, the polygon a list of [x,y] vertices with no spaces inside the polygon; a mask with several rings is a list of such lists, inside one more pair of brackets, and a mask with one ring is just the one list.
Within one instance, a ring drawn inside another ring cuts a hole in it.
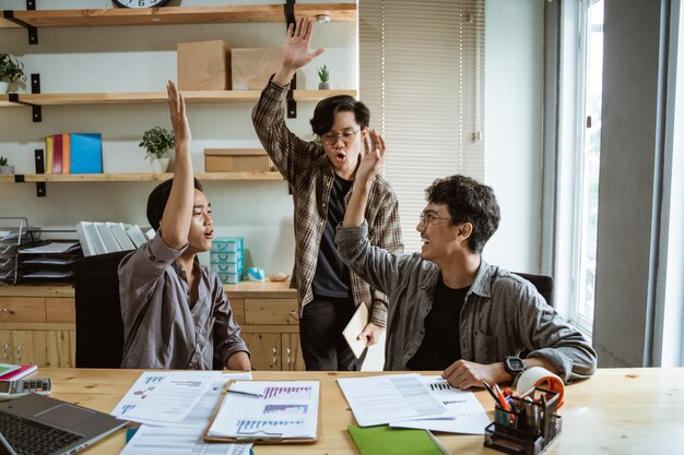
[{"label": "black t-shirt under the open shirt of the seated man with glasses", "polygon": [[444,370],[461,358],[459,322],[469,289],[451,289],[439,276],[433,308],[424,321],[423,344],[408,362],[411,370]]}]

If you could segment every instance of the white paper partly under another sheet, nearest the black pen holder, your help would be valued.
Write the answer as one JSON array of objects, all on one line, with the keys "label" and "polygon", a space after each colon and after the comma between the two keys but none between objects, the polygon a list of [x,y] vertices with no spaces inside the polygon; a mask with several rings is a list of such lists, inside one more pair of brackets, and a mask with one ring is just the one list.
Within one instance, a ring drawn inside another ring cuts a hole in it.
[{"label": "white paper partly under another sheet, nearest the black pen holder", "polygon": [[392,422],[390,427],[417,428],[448,433],[484,434],[484,429],[491,421],[474,393],[451,387],[447,380],[441,376],[421,376],[421,382],[456,417],[452,419],[406,420]]}]

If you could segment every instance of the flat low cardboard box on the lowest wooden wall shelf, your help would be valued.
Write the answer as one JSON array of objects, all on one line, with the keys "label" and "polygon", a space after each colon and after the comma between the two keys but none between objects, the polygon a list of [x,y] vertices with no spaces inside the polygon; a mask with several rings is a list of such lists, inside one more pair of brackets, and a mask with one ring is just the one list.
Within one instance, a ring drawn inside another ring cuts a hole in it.
[{"label": "flat low cardboard box on the lowest wooden wall shelf", "polygon": [[204,148],[205,172],[267,172],[271,158],[262,148]]}]

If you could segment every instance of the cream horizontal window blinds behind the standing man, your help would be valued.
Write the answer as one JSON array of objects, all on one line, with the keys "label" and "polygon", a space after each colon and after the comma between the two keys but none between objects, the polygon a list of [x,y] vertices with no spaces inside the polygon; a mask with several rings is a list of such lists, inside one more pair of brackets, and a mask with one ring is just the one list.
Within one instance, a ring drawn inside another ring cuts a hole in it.
[{"label": "cream horizontal window blinds behind the standing man", "polygon": [[388,145],[408,252],[425,188],[484,181],[484,0],[359,0],[359,94]]}]

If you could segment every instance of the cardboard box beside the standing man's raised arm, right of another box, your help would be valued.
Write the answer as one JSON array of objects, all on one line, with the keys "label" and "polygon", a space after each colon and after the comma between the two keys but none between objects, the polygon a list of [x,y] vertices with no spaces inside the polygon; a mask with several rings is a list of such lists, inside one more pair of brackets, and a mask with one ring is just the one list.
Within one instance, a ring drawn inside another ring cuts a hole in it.
[{"label": "cardboard box beside the standing man's raised arm, right of another box", "polygon": [[234,91],[260,91],[283,64],[283,49],[232,49],[231,68]]}]

